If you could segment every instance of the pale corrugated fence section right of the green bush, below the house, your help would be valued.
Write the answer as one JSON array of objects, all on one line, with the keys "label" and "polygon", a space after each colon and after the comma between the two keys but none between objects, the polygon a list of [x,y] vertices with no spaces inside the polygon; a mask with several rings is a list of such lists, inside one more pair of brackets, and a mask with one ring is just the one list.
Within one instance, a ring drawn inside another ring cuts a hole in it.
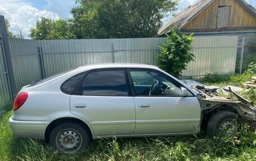
[{"label": "pale corrugated fence section right of the green bush, below the house", "polygon": [[188,69],[183,71],[182,76],[234,73],[238,36],[196,36],[194,38],[193,53],[196,59],[188,64]]}]

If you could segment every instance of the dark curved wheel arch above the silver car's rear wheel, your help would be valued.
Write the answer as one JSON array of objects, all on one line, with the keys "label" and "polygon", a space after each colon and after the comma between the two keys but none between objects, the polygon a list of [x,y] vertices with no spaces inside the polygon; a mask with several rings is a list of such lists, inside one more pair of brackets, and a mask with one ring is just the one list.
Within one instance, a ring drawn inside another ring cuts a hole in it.
[{"label": "dark curved wheel arch above the silver car's rear wheel", "polygon": [[49,142],[49,135],[51,133],[51,130],[56,127],[57,125],[60,125],[61,123],[77,123],[79,125],[81,125],[84,130],[86,130],[88,132],[88,134],[90,135],[90,139],[92,139],[93,137],[93,131],[92,129],[86,124],[84,123],[84,121],[82,121],[81,119],[77,119],[77,118],[58,118],[55,119],[54,121],[52,121],[46,128],[45,130],[45,142]]}]

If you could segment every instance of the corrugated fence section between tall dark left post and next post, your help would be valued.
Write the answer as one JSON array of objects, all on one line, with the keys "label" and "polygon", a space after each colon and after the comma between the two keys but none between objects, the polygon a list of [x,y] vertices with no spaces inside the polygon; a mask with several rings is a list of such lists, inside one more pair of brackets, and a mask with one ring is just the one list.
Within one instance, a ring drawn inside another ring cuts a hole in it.
[{"label": "corrugated fence section between tall dark left post and next post", "polygon": [[38,41],[9,39],[16,92],[29,82],[42,79]]}]

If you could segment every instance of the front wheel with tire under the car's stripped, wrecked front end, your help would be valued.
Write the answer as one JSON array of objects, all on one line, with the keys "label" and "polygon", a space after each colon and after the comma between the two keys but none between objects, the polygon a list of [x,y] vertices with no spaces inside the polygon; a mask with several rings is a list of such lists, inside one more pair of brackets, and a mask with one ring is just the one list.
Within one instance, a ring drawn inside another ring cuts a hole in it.
[{"label": "front wheel with tire under the car's stripped, wrecked front end", "polygon": [[234,137],[241,127],[239,117],[230,111],[219,111],[207,124],[207,134],[211,136]]}]

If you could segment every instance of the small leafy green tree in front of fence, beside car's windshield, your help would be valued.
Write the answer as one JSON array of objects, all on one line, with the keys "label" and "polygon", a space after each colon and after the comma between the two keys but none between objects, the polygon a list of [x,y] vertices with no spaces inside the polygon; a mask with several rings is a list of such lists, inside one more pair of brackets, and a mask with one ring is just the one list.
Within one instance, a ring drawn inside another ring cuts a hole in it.
[{"label": "small leafy green tree in front of fence, beside car's windshield", "polygon": [[157,65],[164,71],[179,77],[190,61],[195,59],[192,47],[192,34],[184,35],[179,29],[171,29],[167,40],[159,46]]}]

